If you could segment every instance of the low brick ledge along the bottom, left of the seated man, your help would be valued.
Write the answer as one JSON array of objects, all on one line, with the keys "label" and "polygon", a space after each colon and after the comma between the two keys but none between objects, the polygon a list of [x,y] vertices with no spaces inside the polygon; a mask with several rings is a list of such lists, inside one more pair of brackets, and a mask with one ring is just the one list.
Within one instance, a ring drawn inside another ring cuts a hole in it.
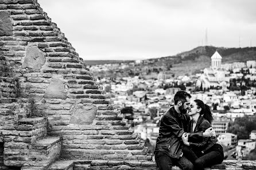
[{"label": "low brick ledge along the bottom, left of the seated man", "polygon": [[[89,169],[157,169],[155,161],[135,161],[135,160],[77,160],[74,161],[74,170]],[[173,169],[174,170],[174,169]]]}]

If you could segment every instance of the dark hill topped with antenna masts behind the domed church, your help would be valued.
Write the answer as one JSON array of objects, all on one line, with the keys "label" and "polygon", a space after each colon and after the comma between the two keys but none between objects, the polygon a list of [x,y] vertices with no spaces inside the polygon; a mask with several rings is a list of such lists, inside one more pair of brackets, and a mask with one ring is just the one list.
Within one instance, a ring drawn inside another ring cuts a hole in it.
[{"label": "dark hill topped with antenna masts behind the domed church", "polygon": [[211,66],[211,56],[218,51],[222,56],[222,63],[246,62],[256,60],[256,48],[217,48],[214,46],[199,46],[188,52],[175,56],[148,59],[156,65],[172,64],[170,71],[176,76],[199,73],[200,70]]}]

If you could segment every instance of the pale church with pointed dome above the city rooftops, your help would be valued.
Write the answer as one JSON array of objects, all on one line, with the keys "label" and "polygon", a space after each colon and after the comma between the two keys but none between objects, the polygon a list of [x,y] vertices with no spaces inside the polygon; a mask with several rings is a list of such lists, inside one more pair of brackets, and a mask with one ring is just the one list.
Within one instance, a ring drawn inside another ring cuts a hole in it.
[{"label": "pale church with pointed dome above the city rooftops", "polygon": [[196,86],[202,86],[203,89],[218,86],[227,89],[230,86],[229,74],[230,72],[222,68],[222,56],[216,51],[211,57],[211,67],[204,69],[204,73],[197,80]]}]

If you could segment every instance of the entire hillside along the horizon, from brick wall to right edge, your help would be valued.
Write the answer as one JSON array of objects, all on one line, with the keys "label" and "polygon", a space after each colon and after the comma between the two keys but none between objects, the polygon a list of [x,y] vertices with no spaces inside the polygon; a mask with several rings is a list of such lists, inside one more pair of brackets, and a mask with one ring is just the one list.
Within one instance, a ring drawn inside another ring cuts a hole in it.
[{"label": "entire hillside along the horizon, from brick wall to right edge", "polygon": [[[211,56],[216,52],[222,56],[222,63],[246,62],[256,60],[256,48],[217,48],[214,46],[199,46],[187,52],[176,54],[175,56],[166,56],[160,58],[150,58],[143,60],[139,65],[130,66],[126,70],[113,69],[110,73],[98,72],[93,70],[94,75],[104,77],[126,77],[143,75],[145,78],[156,77],[159,72],[164,71],[169,76],[182,76],[185,74],[200,73],[202,69],[211,66]],[[110,64],[131,61],[85,61],[87,65]],[[144,69],[143,69],[144,68]],[[150,70],[149,70],[150,69]],[[145,70],[148,70],[145,73]]]}]

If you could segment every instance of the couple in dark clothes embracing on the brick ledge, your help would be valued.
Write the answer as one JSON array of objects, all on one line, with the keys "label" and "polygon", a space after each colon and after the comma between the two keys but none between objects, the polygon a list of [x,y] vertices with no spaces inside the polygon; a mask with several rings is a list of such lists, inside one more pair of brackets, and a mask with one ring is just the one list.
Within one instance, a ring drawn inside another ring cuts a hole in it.
[{"label": "couple in dark clothes embracing on the brick ledge", "polygon": [[172,106],[161,118],[154,151],[158,168],[203,170],[220,164],[224,159],[222,145],[218,144],[211,128],[212,114],[201,100],[191,101],[191,95],[179,91]]}]

